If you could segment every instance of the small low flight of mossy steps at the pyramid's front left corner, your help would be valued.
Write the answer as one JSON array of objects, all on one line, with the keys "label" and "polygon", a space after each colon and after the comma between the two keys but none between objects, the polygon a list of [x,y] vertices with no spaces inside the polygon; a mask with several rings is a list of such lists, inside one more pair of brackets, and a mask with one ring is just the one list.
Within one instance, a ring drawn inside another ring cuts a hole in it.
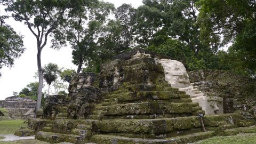
[{"label": "small low flight of mossy steps at the pyramid's front left corner", "polygon": [[94,121],[57,119],[36,133],[35,139],[50,143],[84,143],[92,136]]}]

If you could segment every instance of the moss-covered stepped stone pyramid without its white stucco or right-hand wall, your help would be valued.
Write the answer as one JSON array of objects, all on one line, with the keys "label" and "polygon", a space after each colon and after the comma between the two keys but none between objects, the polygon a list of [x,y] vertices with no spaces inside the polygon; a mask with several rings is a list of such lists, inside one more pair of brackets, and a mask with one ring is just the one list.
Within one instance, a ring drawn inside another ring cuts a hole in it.
[{"label": "moss-covered stepped stone pyramid without its white stucco or right-hand wall", "polygon": [[134,49],[106,62],[99,75],[75,76],[68,98],[49,97],[44,119],[30,119],[28,128],[16,134],[35,133],[36,139],[50,143],[115,144],[188,143],[256,132],[255,122],[239,113],[205,115],[202,131],[198,115],[204,110],[165,81],[166,71],[159,63],[163,59],[169,58]]}]

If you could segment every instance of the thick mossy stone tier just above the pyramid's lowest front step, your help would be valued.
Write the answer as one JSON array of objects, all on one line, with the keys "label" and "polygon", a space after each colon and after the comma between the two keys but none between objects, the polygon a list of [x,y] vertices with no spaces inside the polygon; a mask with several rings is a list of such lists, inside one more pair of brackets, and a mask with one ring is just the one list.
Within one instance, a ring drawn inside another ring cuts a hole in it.
[{"label": "thick mossy stone tier just above the pyramid's lowest front step", "polygon": [[140,138],[158,138],[166,137],[167,133],[200,128],[201,123],[195,116],[162,119],[111,119],[97,122],[97,127],[103,133],[137,134]]}]

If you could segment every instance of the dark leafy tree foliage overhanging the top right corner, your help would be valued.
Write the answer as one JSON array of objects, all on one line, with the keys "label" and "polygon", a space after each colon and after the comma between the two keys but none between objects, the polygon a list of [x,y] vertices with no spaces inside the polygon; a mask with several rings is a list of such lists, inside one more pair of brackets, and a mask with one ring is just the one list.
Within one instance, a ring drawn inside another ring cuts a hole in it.
[{"label": "dark leafy tree foliage overhanging the top right corner", "polygon": [[201,7],[198,21],[204,44],[231,44],[228,53],[218,55],[222,68],[238,74],[255,75],[255,1],[199,0],[197,5]]}]

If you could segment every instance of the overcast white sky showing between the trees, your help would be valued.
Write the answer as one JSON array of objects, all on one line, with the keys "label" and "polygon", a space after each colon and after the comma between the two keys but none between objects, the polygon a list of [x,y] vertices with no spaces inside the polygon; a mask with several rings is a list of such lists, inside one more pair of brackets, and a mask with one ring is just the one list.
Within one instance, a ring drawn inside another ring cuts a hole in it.
[{"label": "overcast white sky showing between the trees", "polygon": [[[104,0],[115,4],[116,7],[123,3],[132,4],[133,7],[142,5],[142,0]],[[3,8],[0,7],[1,15],[4,13]],[[23,87],[26,87],[30,82],[36,82],[35,73],[37,71],[36,61],[36,39],[28,28],[21,22],[14,21],[12,19],[6,20],[8,25],[11,25],[17,33],[24,36],[23,42],[26,47],[26,51],[20,58],[15,59],[14,66],[12,68],[0,69],[2,77],[0,78],[0,100],[4,100],[7,97],[11,97],[13,91],[20,92]],[[77,69],[77,66],[71,62],[71,49],[70,47],[63,47],[61,50],[52,50],[49,48],[50,43],[44,47],[42,51],[42,66],[49,62],[57,63],[59,67]]]}]

